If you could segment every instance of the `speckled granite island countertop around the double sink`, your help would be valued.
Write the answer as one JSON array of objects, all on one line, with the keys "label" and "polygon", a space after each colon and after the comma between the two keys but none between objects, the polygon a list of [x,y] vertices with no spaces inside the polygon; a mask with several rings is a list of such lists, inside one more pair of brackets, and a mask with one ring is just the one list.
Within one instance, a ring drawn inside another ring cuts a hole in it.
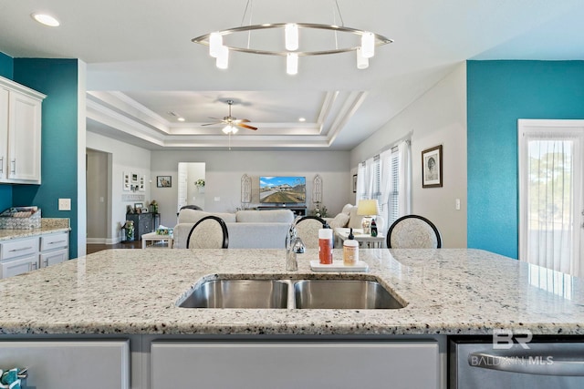
[{"label": "speckled granite island countertop around the double sink", "polygon": [[[335,250],[334,258],[342,252]],[[107,250],[0,281],[0,333],[128,334],[584,334],[584,281],[465,249],[360,251],[366,273],[315,273],[284,250]],[[187,309],[201,279],[378,279],[407,302],[398,310]],[[34,296],[34,298],[31,298]]]}]

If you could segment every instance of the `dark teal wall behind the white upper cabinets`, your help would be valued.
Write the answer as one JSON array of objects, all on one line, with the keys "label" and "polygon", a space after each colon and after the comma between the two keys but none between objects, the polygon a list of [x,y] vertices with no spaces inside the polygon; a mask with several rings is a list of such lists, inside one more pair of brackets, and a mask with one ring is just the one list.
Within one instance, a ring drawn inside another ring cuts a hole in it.
[{"label": "dark teal wall behind the white upper cabinets", "polygon": [[[15,58],[14,80],[47,98],[43,100],[42,184],[13,186],[13,204],[37,205],[44,218],[69,218],[69,256],[77,258],[78,60]],[[58,199],[71,199],[71,210],[58,210]]]}]

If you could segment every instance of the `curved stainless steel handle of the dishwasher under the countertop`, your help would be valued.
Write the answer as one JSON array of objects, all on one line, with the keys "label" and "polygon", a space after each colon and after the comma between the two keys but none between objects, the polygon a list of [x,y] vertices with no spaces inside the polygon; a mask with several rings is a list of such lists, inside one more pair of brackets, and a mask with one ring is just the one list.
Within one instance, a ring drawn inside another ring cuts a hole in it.
[{"label": "curved stainless steel handle of the dishwasher under the countertop", "polygon": [[584,355],[569,350],[560,353],[469,353],[468,364],[510,373],[584,376]]}]

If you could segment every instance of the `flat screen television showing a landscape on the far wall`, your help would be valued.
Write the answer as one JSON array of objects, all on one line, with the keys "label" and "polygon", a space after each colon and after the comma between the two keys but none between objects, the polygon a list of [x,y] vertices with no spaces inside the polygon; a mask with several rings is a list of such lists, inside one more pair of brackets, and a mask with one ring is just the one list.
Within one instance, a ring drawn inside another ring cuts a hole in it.
[{"label": "flat screen television showing a landscape on the far wall", "polygon": [[259,202],[300,204],[307,201],[306,177],[260,177]]}]

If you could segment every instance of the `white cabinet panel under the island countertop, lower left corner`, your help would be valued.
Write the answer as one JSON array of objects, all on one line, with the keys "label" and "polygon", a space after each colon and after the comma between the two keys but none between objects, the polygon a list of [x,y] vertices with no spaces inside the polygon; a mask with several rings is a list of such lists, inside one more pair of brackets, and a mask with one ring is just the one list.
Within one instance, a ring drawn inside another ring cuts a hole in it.
[{"label": "white cabinet panel under the island countertop, lower left corner", "polygon": [[27,388],[127,389],[130,387],[130,343],[0,342],[0,366],[28,367]]}]

